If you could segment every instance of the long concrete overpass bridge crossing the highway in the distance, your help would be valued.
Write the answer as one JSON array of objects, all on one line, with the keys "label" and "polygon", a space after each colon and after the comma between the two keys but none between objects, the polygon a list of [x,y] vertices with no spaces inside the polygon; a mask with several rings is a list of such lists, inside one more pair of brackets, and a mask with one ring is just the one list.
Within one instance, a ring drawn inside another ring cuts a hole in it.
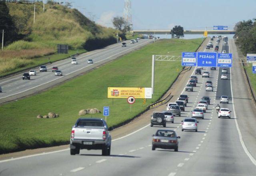
[{"label": "long concrete overpass bridge crossing the highway in the distance", "polygon": [[[205,30],[184,30],[184,34],[204,34]],[[171,30],[133,30],[136,34],[170,34]],[[207,30],[208,34],[235,34],[234,30]]]}]

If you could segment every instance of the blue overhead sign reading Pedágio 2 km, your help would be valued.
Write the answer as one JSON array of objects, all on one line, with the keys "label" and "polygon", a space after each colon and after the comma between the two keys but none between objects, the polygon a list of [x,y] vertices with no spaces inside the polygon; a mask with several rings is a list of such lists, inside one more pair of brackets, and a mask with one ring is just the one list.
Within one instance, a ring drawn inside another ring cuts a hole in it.
[{"label": "blue overhead sign reading Ped\u00e1gio 2 km", "polygon": [[216,67],[217,63],[216,52],[198,52],[197,53],[197,66],[201,67]]}]

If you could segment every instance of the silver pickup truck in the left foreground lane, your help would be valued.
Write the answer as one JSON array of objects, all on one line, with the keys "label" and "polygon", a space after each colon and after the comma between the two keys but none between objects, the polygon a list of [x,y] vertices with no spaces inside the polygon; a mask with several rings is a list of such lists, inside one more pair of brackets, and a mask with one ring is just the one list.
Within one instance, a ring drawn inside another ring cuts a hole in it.
[{"label": "silver pickup truck in the left foreground lane", "polygon": [[72,126],[70,154],[79,154],[80,149],[102,150],[102,155],[110,155],[111,136],[105,120],[99,118],[79,118]]}]

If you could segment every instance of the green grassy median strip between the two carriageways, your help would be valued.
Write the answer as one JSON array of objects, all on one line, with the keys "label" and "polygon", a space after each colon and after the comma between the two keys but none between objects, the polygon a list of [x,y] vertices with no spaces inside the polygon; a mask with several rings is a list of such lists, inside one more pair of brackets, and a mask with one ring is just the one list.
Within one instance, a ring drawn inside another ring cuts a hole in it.
[{"label": "green grassy median strip between the two carriageways", "polygon": [[[152,54],[180,56],[195,51],[202,39],[161,40],[122,56],[96,70],[34,96],[0,106],[0,153],[67,143],[79,110],[110,106],[108,125],[115,126],[136,116],[168,89],[181,70],[180,62],[156,61],[155,92],[146,105],[136,100],[107,98],[107,87],[150,87]],[[113,104],[112,104],[113,103]],[[58,118],[37,119],[38,114],[60,114]],[[103,114],[84,117],[103,118]]]}]

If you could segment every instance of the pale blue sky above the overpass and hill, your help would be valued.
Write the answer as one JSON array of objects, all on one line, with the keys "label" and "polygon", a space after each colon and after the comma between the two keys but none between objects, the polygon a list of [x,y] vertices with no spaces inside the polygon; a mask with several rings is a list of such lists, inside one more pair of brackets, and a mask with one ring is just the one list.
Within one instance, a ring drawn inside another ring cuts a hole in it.
[{"label": "pale blue sky above the overpass and hill", "polygon": [[[112,27],[112,18],[122,16],[124,0],[68,0],[88,18]],[[66,0],[64,0],[66,2]],[[256,0],[131,0],[134,30],[210,30],[214,25],[229,26],[256,18]],[[85,9],[83,9],[85,8]]]}]

